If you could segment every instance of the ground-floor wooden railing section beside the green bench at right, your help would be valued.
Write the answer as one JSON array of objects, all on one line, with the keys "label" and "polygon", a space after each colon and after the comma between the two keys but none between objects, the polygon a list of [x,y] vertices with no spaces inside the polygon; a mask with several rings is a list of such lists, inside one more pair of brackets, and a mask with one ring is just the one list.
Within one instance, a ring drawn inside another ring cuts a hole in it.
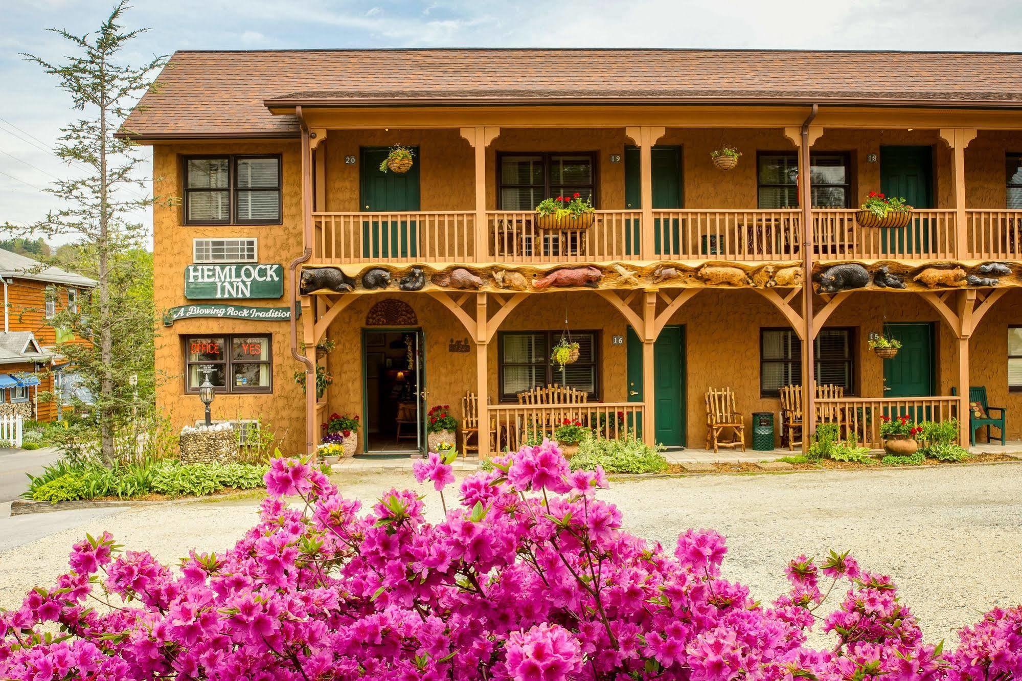
[{"label": "ground-floor wooden railing section beside the green bench at right", "polygon": [[883,446],[880,438],[882,416],[896,418],[908,414],[912,420],[945,421],[958,418],[960,398],[841,398],[816,401],[817,424],[837,423],[841,437],[852,435],[865,447]]}]

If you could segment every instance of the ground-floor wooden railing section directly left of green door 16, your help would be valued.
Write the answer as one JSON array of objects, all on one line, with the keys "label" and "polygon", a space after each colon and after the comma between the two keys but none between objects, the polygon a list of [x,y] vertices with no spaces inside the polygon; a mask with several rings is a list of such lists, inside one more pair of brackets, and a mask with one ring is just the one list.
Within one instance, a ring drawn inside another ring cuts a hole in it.
[{"label": "ground-floor wooden railing section directly left of green door 16", "polygon": [[592,402],[588,404],[491,405],[490,419],[497,428],[497,449],[516,451],[532,438],[554,439],[564,419],[582,421],[598,438],[622,438],[642,428],[642,402]]}]

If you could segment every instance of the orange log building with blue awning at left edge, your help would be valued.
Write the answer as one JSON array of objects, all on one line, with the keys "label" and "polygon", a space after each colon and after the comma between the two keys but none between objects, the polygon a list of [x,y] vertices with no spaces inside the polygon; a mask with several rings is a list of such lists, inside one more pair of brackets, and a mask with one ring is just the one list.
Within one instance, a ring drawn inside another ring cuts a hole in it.
[{"label": "orange log building with blue awning at left edge", "polygon": [[[78,376],[57,345],[81,340],[51,322],[57,312],[77,306],[96,281],[26,256],[0,249],[3,280],[3,332],[0,333],[0,415],[55,421],[62,415],[65,391]],[[40,400],[40,394],[50,399]]]}]

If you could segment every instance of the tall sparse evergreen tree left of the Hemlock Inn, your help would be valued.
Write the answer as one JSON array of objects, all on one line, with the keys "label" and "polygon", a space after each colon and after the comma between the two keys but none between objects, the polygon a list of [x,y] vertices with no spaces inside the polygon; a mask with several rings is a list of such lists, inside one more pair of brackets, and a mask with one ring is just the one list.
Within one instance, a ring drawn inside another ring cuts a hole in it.
[{"label": "tall sparse evergreen tree left of the Hemlock Inn", "polygon": [[89,445],[88,450],[107,463],[119,457],[119,443],[125,442],[137,423],[139,405],[130,377],[138,374],[140,397],[152,394],[151,256],[147,264],[140,257],[147,230],[131,219],[133,212],[150,206],[152,199],[139,194],[139,188],[146,187],[139,178],[137,147],[114,133],[166,59],[154,57],[141,65],[119,59],[126,44],[144,31],[124,29],[121,19],[126,9],[122,0],[95,33],[76,36],[51,29],[73,50],[60,63],[24,55],[56,76],[60,89],[71,95],[73,107],[82,112],[61,129],[55,151],[68,167],[84,170],[48,189],[62,199],[62,208],[28,229],[48,237],[72,236],[78,246],[77,262],[64,265],[98,282],[83,297],[78,311],[60,313],[54,325],[73,328],[91,342],[75,347],[64,344],[58,352],[74,362],[91,393],[93,422],[85,432],[92,434],[94,442],[79,447]]}]

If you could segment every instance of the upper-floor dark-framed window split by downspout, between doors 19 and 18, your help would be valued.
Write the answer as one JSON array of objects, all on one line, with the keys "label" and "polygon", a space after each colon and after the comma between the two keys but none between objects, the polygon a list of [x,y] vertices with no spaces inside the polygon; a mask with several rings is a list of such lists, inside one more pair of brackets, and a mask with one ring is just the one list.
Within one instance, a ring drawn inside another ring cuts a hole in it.
[{"label": "upper-floor dark-framed window split by downspout, between doors 19 and 18", "polygon": [[[812,153],[809,155],[812,181],[812,206],[848,208],[848,155]],[[798,207],[798,155],[764,152],[757,157],[757,195],[761,209]]]}]

